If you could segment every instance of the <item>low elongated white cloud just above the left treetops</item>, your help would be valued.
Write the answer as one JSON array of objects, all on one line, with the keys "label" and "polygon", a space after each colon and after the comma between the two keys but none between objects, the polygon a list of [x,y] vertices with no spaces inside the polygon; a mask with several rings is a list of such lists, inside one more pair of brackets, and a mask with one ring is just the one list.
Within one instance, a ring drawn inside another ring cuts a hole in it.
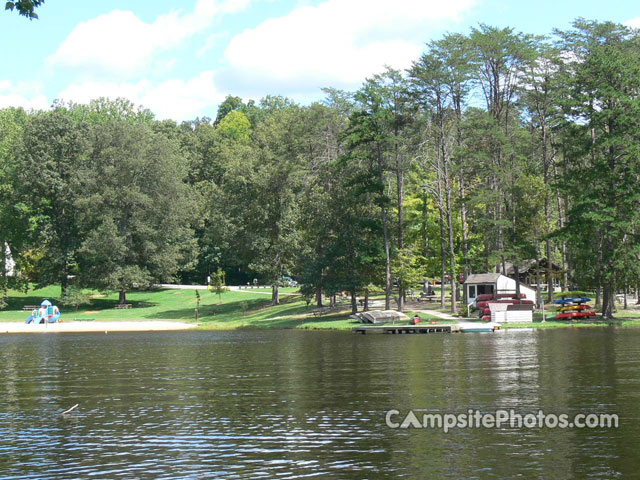
[{"label": "low elongated white cloud just above the left treetops", "polygon": [[143,79],[129,82],[76,83],[60,92],[59,98],[75,103],[88,103],[98,97],[124,97],[151,110],[158,119],[191,120],[209,115],[223,99],[215,86],[215,73],[202,72],[197,77],[170,79],[154,84]]}]

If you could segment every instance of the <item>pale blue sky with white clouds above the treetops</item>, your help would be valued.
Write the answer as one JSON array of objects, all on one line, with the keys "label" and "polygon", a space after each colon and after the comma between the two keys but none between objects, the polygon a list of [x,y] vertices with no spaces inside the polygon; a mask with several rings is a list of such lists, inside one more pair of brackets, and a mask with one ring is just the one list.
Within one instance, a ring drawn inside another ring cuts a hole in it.
[{"label": "pale blue sky with white clouds above the treetops", "polygon": [[227,95],[308,104],[323,87],[356,90],[480,23],[640,28],[635,0],[46,0],[37,14],[0,11],[0,108],[125,97],[178,122],[215,118]]}]

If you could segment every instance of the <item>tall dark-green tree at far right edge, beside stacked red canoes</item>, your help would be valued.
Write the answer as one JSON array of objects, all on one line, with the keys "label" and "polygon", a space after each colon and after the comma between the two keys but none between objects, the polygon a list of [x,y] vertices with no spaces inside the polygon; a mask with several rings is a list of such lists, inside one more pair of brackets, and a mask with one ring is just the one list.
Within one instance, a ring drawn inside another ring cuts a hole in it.
[{"label": "tall dark-green tree at far right edge, beside stacked red canoes", "polygon": [[[573,148],[564,180],[572,205],[564,234],[591,280],[580,286],[603,287],[609,318],[616,290],[638,278],[639,47],[636,31],[612,23],[578,20],[563,35],[563,48],[574,61],[561,72],[562,106],[577,119],[575,135],[568,138]],[[589,251],[597,252],[595,262]]]}]

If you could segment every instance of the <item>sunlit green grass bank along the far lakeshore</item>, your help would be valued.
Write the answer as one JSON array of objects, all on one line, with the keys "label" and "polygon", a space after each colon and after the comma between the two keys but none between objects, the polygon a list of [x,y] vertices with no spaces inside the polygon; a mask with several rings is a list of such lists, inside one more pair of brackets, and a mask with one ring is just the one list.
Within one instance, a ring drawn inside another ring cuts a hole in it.
[{"label": "sunlit green grass bank along the far lakeshore", "polygon": [[[301,328],[301,329],[338,329],[349,330],[358,323],[349,319],[350,306],[338,305],[321,316],[314,316],[314,306],[307,305],[304,299],[295,294],[294,289],[285,289],[289,295],[282,296],[282,304],[270,306],[271,296],[268,289],[248,289],[229,291],[218,297],[207,290],[199,290],[199,328],[208,330],[229,330],[238,328]],[[150,321],[166,320],[179,322],[195,322],[197,298],[195,290],[145,290],[127,293],[130,309],[114,308],[118,303],[118,295],[100,295],[97,292],[86,292],[91,296],[87,305],[74,308],[62,307],[62,319],[66,321]],[[29,312],[22,310],[24,305],[39,305],[44,298],[59,304],[59,287],[47,287],[40,290],[9,292],[9,306],[0,312],[0,322],[23,322]],[[415,308],[435,310],[436,304],[421,302]],[[411,306],[407,315],[412,316]],[[426,313],[420,313],[425,321],[450,323]],[[621,312],[614,323],[620,326],[640,326],[640,312]],[[610,323],[594,319],[589,322],[547,321],[523,324],[505,324],[504,328],[567,328],[609,326]]]}]

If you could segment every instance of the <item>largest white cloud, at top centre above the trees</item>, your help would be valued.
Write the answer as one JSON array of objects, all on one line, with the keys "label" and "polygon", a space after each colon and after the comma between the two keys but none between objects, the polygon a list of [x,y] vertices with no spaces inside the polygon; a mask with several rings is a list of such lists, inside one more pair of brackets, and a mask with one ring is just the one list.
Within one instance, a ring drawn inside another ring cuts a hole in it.
[{"label": "largest white cloud, at top centre above the trees", "polygon": [[234,82],[288,88],[353,86],[384,65],[406,68],[433,31],[475,0],[327,0],[301,6],[234,37],[225,51]]}]

